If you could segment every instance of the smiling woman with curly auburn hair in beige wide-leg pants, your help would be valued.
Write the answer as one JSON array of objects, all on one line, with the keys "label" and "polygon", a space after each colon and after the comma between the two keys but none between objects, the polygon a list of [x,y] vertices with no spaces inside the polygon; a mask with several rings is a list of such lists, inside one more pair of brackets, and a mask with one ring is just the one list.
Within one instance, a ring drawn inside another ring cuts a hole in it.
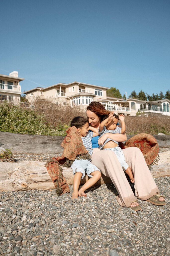
[{"label": "smiling woman with curly auburn hair in beige wide-leg pants", "polygon": [[[100,102],[91,102],[86,111],[90,126],[98,128],[104,115],[108,113],[109,111]],[[107,138],[122,142],[126,140],[126,135],[107,133],[99,139],[99,144],[103,144]],[[165,205],[164,196],[159,195],[159,189],[139,148],[129,147],[123,150],[125,161],[132,169],[135,177],[136,198],[114,152],[111,150],[100,151],[97,140],[98,136],[92,139],[92,164],[96,165],[102,174],[111,178],[119,194],[116,199],[121,206],[130,207],[136,211],[141,210],[137,198],[148,200],[155,205]]]}]

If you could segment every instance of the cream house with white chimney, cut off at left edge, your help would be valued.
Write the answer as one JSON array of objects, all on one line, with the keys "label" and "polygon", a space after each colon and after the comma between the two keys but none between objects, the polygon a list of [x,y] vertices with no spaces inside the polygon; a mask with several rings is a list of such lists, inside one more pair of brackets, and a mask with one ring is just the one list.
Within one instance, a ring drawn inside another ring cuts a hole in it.
[{"label": "cream house with white chimney, cut off at left edge", "polygon": [[23,80],[24,78],[18,77],[17,71],[11,72],[9,76],[0,74],[0,100],[20,102],[21,86],[19,82]]}]

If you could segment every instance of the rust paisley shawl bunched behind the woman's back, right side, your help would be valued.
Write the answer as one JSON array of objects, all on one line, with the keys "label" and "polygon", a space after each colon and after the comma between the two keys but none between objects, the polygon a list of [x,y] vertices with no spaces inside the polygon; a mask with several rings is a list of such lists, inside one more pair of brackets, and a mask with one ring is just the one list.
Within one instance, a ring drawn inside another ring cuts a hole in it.
[{"label": "rust paisley shawl bunched behind the woman's back, right side", "polygon": [[143,153],[148,166],[158,162],[159,145],[155,137],[150,134],[137,134],[127,140],[125,144],[119,142],[119,145],[122,149],[127,147],[138,147]]}]

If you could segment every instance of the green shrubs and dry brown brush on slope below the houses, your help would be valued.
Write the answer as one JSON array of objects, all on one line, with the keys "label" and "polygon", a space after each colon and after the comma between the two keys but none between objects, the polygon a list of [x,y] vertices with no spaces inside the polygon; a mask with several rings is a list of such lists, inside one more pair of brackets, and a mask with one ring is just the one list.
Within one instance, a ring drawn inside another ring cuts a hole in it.
[{"label": "green shrubs and dry brown brush on slope below the houses", "polygon": [[[21,134],[65,136],[74,116],[86,116],[82,106],[56,105],[51,99],[36,99],[34,108],[27,104],[0,102],[0,131]],[[27,106],[27,107],[26,107]],[[169,116],[126,116],[126,134],[162,132],[170,135]]]}]

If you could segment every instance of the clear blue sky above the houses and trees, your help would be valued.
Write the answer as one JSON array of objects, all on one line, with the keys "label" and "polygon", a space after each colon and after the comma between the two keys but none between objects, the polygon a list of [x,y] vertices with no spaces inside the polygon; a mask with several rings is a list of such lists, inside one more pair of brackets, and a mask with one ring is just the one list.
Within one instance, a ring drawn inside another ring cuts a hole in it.
[{"label": "clear blue sky above the houses and trees", "polygon": [[79,81],[170,89],[169,0],[1,0],[0,73],[21,90]]}]

